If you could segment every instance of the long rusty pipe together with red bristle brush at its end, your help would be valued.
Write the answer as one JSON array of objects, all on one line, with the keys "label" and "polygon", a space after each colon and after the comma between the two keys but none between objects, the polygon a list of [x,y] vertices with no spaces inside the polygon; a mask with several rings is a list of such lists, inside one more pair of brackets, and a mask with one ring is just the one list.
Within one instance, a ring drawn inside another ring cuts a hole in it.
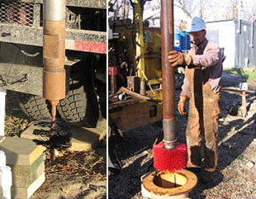
[{"label": "long rusty pipe together with red bristle brush at its end", "polygon": [[161,0],[161,36],[164,142],[154,145],[154,168],[172,173],[187,164],[187,147],[176,142],[174,67],[168,63],[168,52],[174,47],[173,1]]}]

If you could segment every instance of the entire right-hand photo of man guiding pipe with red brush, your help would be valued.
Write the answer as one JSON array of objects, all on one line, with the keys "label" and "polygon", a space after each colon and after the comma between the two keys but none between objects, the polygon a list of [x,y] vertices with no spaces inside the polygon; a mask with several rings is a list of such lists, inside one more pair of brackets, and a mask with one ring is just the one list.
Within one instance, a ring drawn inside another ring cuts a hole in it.
[{"label": "entire right-hand photo of man guiding pipe with red brush", "polygon": [[108,198],[256,197],[256,1],[108,1]]}]

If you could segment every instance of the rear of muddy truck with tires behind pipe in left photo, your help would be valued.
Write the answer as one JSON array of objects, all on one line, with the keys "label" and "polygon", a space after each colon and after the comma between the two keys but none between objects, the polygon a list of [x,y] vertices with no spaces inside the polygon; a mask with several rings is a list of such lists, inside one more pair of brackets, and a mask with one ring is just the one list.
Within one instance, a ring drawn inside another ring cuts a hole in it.
[{"label": "rear of muddy truck with tires behind pipe in left photo", "polygon": [[[100,111],[107,115],[107,3],[64,3],[66,95],[57,114],[93,127]],[[51,104],[42,97],[43,4],[43,0],[0,0],[0,87],[19,92],[21,109],[35,120],[51,116]]]}]

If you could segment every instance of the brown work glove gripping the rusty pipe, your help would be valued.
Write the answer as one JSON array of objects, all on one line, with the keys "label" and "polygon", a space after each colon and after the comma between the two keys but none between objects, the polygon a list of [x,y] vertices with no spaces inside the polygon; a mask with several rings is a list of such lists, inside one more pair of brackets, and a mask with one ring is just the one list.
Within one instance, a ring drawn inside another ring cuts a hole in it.
[{"label": "brown work glove gripping the rusty pipe", "polygon": [[178,64],[192,64],[192,56],[188,54],[180,53],[176,50],[169,51],[168,62],[171,63],[171,66],[177,66]]}]

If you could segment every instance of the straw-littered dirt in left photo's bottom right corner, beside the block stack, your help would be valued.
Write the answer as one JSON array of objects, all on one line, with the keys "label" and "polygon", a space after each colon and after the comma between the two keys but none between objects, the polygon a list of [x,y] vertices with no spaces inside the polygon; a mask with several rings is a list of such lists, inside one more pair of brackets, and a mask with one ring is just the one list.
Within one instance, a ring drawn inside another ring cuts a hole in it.
[{"label": "straw-littered dirt in left photo's bottom right corner, beside the block stack", "polygon": [[[98,149],[106,147],[98,147]],[[99,150],[66,152],[63,157],[45,160],[44,184],[30,199],[106,198],[106,163]]]}]

